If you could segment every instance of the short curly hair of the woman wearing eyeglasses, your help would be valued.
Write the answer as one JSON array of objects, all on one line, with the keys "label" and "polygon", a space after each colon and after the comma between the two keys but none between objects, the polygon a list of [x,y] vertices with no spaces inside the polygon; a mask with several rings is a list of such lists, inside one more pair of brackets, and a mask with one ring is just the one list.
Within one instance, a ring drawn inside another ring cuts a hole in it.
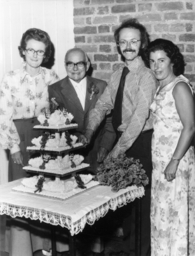
[{"label": "short curly hair of the woman wearing eyeglasses", "polygon": [[27,31],[25,31],[25,33],[22,35],[20,46],[18,46],[20,56],[25,60],[25,56],[22,52],[25,51],[27,42],[31,39],[37,40],[45,44],[45,58],[43,59],[43,63],[47,62],[52,54],[52,42],[50,40],[50,36],[48,35],[48,33],[38,28],[30,28]]}]

